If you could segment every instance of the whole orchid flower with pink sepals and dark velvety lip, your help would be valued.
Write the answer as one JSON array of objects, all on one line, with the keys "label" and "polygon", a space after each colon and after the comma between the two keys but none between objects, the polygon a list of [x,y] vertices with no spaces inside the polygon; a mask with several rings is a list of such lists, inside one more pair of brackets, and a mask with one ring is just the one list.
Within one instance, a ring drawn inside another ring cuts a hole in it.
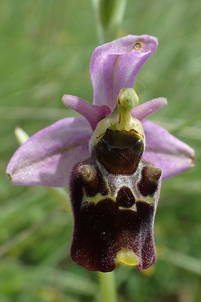
[{"label": "whole orchid flower with pink sepals and dark velvety lip", "polygon": [[27,186],[66,187],[72,171],[71,256],[89,270],[112,271],[119,262],[139,270],[151,266],[161,179],[193,166],[192,148],[144,120],[166,99],[137,106],[134,80],[157,45],[155,37],[128,35],[97,47],[90,63],[93,105],[70,95],[62,99],[84,118],[65,118],[37,132],[7,168],[13,184]]}]

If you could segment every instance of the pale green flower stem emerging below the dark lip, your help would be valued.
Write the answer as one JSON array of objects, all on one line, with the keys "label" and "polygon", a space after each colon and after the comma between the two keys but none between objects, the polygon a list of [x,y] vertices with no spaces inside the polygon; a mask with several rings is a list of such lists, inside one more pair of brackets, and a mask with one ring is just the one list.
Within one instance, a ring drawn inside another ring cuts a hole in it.
[{"label": "pale green flower stem emerging below the dark lip", "polygon": [[101,302],[117,302],[115,273],[98,272]]}]

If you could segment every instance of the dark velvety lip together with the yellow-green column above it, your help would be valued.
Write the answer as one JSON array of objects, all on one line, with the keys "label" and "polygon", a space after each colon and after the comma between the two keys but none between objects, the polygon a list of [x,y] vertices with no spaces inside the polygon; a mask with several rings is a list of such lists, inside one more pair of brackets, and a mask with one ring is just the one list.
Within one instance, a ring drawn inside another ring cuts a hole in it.
[{"label": "dark velvety lip together with the yellow-green column above it", "polygon": [[71,257],[91,271],[109,272],[119,262],[142,270],[156,261],[153,223],[162,171],[142,159],[143,126],[131,116],[137,105],[132,88],[120,91],[114,112],[91,137],[90,158],[71,173]]}]

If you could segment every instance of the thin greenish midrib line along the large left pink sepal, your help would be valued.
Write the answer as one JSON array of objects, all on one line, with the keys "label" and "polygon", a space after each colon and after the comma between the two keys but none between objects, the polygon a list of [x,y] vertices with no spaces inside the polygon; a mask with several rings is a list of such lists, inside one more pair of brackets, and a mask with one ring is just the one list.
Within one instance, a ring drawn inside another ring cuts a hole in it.
[{"label": "thin greenish midrib line along the large left pink sepal", "polygon": [[[72,144],[68,145],[67,147],[60,149],[59,151],[57,150],[57,151],[53,152],[52,154],[50,154],[50,155],[47,156],[47,157],[43,157],[43,158],[41,158],[41,159],[38,160],[38,161],[32,161],[32,162],[26,163],[26,164],[24,164],[24,165],[18,167],[17,169],[14,169],[14,171],[12,172],[12,174],[15,174],[16,172],[18,172],[19,170],[21,170],[21,169],[23,169],[23,168],[25,168],[25,167],[28,167],[28,166],[34,165],[34,164],[36,164],[36,163],[42,162],[42,161],[44,161],[45,159],[49,159],[49,158],[52,157],[52,156],[55,156],[55,155],[58,155],[58,154],[63,154],[63,153],[67,152],[68,150],[70,150],[70,149],[72,149],[72,148],[74,148],[74,147],[82,146],[82,145],[84,145],[84,144],[86,144],[86,143],[88,143],[88,139],[85,139],[85,140],[82,141],[82,142],[72,143]],[[9,175],[10,181],[11,181],[11,180],[12,180],[12,176],[11,176],[11,174],[8,174],[8,175]]]}]

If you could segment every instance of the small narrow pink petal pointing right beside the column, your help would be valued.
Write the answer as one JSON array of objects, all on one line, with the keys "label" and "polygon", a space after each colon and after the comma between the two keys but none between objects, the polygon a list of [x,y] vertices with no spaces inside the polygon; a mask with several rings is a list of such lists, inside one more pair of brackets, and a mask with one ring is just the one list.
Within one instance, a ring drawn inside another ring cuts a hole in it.
[{"label": "small narrow pink petal pointing right beside the column", "polygon": [[149,102],[146,102],[142,105],[133,108],[131,114],[133,117],[136,117],[141,121],[145,117],[151,115],[152,113],[156,112],[165,105],[167,105],[167,100],[165,98],[153,99]]}]

